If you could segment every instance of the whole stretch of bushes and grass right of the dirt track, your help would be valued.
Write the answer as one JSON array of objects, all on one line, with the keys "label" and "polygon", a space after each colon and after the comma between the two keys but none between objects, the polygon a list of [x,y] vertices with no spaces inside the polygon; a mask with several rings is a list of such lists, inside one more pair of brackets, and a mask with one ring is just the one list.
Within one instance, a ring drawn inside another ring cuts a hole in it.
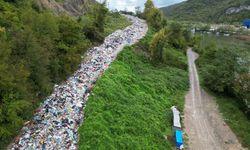
[{"label": "whole stretch of bushes and grass right of the dirt track", "polygon": [[202,84],[212,91],[225,121],[250,148],[250,45],[233,37],[203,36],[197,61]]}]

